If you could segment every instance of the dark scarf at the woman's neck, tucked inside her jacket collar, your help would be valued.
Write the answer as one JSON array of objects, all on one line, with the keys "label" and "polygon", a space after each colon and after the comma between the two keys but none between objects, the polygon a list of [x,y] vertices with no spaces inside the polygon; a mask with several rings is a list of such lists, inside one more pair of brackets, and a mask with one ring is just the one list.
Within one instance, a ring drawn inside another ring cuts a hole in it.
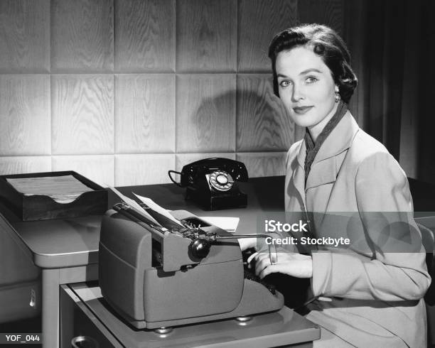
[{"label": "dark scarf at the woman's neck, tucked inside her jacket collar", "polygon": [[331,131],[337,126],[338,122],[340,122],[341,119],[343,119],[343,116],[348,111],[348,106],[343,103],[343,101],[340,101],[340,104],[338,104],[337,110],[335,111],[334,116],[331,117],[331,119],[328,121],[328,124],[323,128],[321,131],[321,134],[318,135],[316,143],[314,143],[313,138],[311,138],[310,132],[308,131],[308,128],[305,129],[305,136],[304,141],[306,144],[306,156],[305,156],[305,183],[306,179],[308,178],[308,174],[311,170],[311,164],[313,164],[314,158],[316,158],[316,155],[318,151],[320,150],[323,142],[328,138],[328,135],[331,134]]}]

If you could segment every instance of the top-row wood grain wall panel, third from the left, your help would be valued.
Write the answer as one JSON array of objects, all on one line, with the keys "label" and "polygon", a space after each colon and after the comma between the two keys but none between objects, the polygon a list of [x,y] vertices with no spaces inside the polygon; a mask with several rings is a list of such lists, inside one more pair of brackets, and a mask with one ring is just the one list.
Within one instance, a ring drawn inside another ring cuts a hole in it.
[{"label": "top-row wood grain wall panel, third from the left", "polygon": [[115,70],[175,70],[175,18],[174,0],[115,0]]}]

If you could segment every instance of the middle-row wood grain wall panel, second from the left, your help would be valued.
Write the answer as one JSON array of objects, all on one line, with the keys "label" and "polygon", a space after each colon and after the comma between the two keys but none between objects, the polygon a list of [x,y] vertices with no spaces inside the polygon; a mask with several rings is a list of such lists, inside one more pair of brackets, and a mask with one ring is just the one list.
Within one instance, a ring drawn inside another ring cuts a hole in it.
[{"label": "middle-row wood grain wall panel, second from the left", "polygon": [[52,75],[53,154],[114,153],[113,75]]}]

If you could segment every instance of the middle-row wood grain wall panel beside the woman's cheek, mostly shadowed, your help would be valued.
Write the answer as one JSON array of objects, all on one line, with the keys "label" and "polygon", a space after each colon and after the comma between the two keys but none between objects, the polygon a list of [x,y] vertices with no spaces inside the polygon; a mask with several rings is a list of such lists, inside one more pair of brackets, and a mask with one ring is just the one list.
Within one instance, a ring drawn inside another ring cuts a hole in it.
[{"label": "middle-row wood grain wall panel beside the woman's cheek, mostly shadowed", "polygon": [[294,122],[274,95],[272,75],[237,75],[237,151],[287,151]]}]

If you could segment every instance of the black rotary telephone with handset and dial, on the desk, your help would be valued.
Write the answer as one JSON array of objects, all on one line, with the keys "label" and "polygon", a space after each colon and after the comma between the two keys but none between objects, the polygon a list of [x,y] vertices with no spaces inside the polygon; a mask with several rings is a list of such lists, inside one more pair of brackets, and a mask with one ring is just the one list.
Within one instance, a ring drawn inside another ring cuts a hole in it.
[{"label": "black rotary telephone with handset and dial, on the desk", "polygon": [[[180,183],[171,173],[181,175]],[[187,187],[186,199],[191,199],[207,210],[246,207],[247,195],[240,191],[237,181],[247,181],[248,174],[242,162],[228,158],[206,158],[185,165],[180,172],[168,171],[172,182]]]}]

